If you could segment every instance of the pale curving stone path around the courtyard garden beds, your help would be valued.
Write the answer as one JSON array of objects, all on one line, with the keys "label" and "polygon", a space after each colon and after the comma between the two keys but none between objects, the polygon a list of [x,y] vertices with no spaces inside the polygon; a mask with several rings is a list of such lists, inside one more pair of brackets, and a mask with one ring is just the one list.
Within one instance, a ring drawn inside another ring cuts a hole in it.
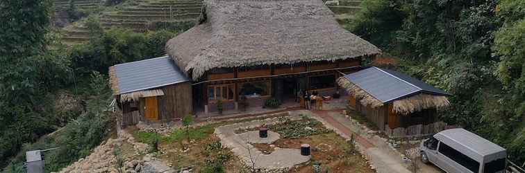
[{"label": "pale curving stone path around the courtyard garden beds", "polygon": [[[292,120],[298,120],[299,116],[292,116]],[[261,171],[275,171],[275,170],[289,170],[294,165],[305,163],[310,161],[310,156],[302,156],[300,149],[281,149],[276,148],[272,154],[263,154],[258,149],[247,143],[248,140],[253,141],[254,137],[247,137],[248,134],[256,135],[253,131],[244,133],[244,135],[235,134],[235,129],[249,129],[253,127],[259,127],[260,125],[274,124],[278,122],[277,118],[267,118],[265,120],[253,120],[250,122],[240,122],[232,125],[224,125],[222,127],[217,127],[215,129],[215,134],[221,138],[221,142],[228,148],[231,148],[233,153],[239,156],[244,163],[252,167],[255,163],[256,170]],[[272,140],[277,140],[276,134],[270,140],[259,140],[260,143],[268,143]],[[269,137],[272,136],[272,133],[269,133]],[[300,146],[297,146],[298,148]]]}]

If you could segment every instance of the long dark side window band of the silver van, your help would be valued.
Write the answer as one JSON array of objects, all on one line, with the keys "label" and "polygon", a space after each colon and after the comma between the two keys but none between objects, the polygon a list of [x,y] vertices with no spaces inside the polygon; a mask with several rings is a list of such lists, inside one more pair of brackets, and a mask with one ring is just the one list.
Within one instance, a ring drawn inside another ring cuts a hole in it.
[{"label": "long dark side window band of the silver van", "polygon": [[476,173],[479,172],[479,162],[474,161],[474,159],[470,158],[469,156],[466,156],[465,154],[458,152],[458,150],[449,147],[449,145],[441,143],[440,149],[438,149],[438,151],[444,156],[450,158],[452,161],[456,161],[456,163],[459,163],[468,170]]}]

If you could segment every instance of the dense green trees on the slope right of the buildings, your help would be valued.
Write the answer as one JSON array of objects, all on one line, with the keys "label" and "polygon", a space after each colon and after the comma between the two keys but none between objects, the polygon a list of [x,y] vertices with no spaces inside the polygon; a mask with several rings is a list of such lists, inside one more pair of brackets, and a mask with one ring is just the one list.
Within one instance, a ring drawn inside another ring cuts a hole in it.
[{"label": "dense green trees on the slope right of the buildings", "polygon": [[365,0],[349,29],[453,94],[440,119],[525,161],[525,1]]}]

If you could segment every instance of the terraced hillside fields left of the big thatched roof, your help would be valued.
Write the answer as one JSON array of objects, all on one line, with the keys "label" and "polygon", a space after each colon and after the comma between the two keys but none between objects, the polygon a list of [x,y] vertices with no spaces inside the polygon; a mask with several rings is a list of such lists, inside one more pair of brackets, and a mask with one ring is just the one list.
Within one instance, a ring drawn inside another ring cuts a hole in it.
[{"label": "terraced hillside fields left of the big thatched roof", "polygon": [[[128,0],[126,4],[117,5],[110,10],[102,12],[99,21],[101,26],[106,29],[112,27],[128,28],[135,32],[143,33],[147,30],[156,30],[159,25],[191,25],[192,22],[197,21],[199,18],[201,7],[201,0]],[[81,8],[81,6],[78,6],[78,8]],[[67,45],[78,44],[88,39],[89,31],[82,21],[75,22],[63,29],[62,40]]]}]

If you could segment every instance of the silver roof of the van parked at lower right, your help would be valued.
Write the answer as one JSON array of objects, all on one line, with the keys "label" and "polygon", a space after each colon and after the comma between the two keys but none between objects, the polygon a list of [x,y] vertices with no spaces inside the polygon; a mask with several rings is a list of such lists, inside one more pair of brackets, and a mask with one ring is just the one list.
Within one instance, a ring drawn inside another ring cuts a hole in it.
[{"label": "silver roof of the van parked at lower right", "polygon": [[473,155],[474,157],[477,157],[476,159],[482,159],[485,156],[490,156],[493,154],[504,155],[506,152],[506,149],[503,147],[500,147],[499,145],[490,142],[490,140],[481,138],[480,136],[462,128],[440,131],[434,135],[434,138],[437,138],[450,147],[456,149],[459,149],[457,145],[461,145],[462,147],[465,147],[469,150],[461,152],[465,152],[465,154],[474,152],[477,155]]}]

